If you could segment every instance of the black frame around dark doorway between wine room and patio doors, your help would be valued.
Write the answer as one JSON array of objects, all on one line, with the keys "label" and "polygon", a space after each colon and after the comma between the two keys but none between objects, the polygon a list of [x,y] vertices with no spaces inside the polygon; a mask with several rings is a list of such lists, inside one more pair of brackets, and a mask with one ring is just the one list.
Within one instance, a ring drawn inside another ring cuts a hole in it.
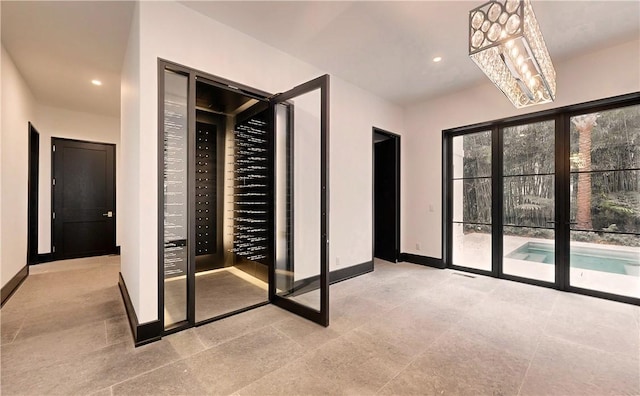
[{"label": "black frame around dark doorway between wine room and patio doors", "polygon": [[393,132],[386,131],[381,128],[373,127],[372,128],[372,143],[371,143],[371,260],[375,258],[375,244],[376,244],[376,138],[375,135],[380,134],[384,135],[390,139],[395,141],[395,168],[396,168],[396,176],[395,176],[395,195],[396,195],[396,207],[395,207],[395,262],[398,262],[400,259],[400,187],[401,187],[401,173],[400,173],[400,163],[401,163],[401,136],[395,134]]}]

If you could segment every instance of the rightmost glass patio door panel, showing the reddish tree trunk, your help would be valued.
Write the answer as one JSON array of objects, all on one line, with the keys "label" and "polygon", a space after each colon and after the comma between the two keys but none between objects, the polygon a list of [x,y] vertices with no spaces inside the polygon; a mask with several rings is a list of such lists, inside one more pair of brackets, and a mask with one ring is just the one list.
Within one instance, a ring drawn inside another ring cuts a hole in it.
[{"label": "rightmost glass patio door panel, showing the reddish tree trunk", "polygon": [[570,128],[570,285],[640,298],[640,106]]}]

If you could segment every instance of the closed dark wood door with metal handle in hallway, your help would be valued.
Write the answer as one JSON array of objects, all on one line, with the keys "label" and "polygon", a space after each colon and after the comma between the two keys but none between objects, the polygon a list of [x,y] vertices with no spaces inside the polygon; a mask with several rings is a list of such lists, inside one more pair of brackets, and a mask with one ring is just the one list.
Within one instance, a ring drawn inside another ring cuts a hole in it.
[{"label": "closed dark wood door with metal handle in hallway", "polygon": [[115,253],[115,145],[57,138],[52,144],[54,258]]}]

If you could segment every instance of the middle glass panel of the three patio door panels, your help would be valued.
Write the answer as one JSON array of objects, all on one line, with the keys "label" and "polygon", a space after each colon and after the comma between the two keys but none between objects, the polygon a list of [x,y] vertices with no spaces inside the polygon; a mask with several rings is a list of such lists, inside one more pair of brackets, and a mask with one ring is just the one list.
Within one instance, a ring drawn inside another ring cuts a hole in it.
[{"label": "middle glass panel of the three patio door panels", "polygon": [[502,130],[502,272],[555,281],[555,122]]}]

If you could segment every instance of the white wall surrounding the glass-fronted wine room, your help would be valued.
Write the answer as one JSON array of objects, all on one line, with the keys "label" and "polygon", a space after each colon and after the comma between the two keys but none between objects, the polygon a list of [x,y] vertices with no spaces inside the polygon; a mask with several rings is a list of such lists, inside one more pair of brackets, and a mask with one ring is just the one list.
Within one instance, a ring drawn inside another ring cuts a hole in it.
[{"label": "white wall surrounding the glass-fronted wine room", "polygon": [[[157,317],[157,58],[273,93],[324,73],[178,3],[141,2],[138,7],[140,118],[135,119],[135,100],[122,104],[122,141],[125,169],[129,172],[130,165],[140,172],[139,184],[125,184],[125,200],[137,199],[139,212],[124,225],[134,230],[122,238],[122,272],[129,292],[140,298],[132,296],[138,320],[146,322]],[[131,70],[135,58],[131,51],[125,61]],[[135,72],[130,77],[135,80]],[[336,269],[338,257],[341,267],[372,258],[371,128],[402,134],[403,120],[399,107],[335,77],[331,120],[330,257]],[[130,139],[125,136],[138,131],[139,146],[124,147]],[[145,276],[136,277],[135,271]]]}]

